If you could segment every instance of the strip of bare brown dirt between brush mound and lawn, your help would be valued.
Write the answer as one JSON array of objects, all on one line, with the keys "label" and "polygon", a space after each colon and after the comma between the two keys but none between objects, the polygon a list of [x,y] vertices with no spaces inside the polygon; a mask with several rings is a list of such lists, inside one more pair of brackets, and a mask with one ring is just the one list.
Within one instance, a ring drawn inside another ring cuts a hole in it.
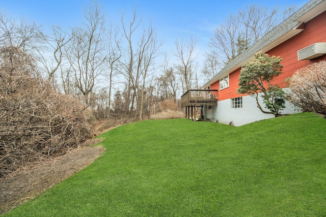
[{"label": "strip of bare brown dirt between brush mound and lawn", "polygon": [[[102,139],[92,140],[95,144]],[[0,180],[0,214],[53,187],[70,175],[92,163],[105,149],[100,146],[83,147],[64,156],[47,159],[30,168]]]}]

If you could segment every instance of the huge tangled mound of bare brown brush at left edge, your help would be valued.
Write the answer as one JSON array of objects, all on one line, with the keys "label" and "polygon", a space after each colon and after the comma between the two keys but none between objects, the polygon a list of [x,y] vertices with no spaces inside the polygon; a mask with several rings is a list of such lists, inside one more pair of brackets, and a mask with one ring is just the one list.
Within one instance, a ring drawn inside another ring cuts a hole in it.
[{"label": "huge tangled mound of bare brown brush at left edge", "polygon": [[89,114],[47,85],[31,56],[16,47],[0,49],[0,177],[90,138]]}]

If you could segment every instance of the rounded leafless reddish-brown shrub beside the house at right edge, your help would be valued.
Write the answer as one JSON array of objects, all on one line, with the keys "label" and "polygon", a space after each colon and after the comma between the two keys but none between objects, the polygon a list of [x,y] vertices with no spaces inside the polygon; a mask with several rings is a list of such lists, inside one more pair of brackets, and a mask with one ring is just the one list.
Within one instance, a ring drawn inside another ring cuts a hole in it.
[{"label": "rounded leafless reddish-brown shrub beside the house at right edge", "polygon": [[297,70],[289,80],[289,101],[304,111],[326,115],[326,61]]}]

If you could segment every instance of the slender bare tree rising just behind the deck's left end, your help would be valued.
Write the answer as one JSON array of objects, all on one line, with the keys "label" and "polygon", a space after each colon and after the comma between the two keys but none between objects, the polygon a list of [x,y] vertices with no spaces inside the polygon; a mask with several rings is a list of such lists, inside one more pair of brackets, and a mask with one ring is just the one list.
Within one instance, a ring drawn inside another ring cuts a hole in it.
[{"label": "slender bare tree rising just behind the deck's left end", "polygon": [[178,59],[176,65],[177,73],[180,75],[183,92],[191,89],[194,83],[194,76],[197,70],[196,45],[198,40],[190,35],[190,40],[185,42],[183,38],[175,41],[174,56]]}]

